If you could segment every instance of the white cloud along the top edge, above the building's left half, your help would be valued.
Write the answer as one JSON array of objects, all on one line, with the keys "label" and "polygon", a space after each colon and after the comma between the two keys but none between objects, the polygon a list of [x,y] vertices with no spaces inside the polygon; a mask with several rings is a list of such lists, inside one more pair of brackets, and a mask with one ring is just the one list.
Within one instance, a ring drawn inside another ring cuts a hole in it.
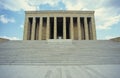
[{"label": "white cloud along the top edge, above the building's left half", "polygon": [[39,5],[49,4],[51,6],[57,5],[60,0],[0,0],[0,5],[4,9],[11,11],[20,11],[20,10],[38,10]]}]

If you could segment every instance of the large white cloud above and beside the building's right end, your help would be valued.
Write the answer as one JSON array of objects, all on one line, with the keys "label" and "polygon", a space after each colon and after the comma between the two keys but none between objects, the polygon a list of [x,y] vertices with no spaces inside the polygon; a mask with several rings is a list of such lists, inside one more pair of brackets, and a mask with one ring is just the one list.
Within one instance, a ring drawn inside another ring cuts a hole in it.
[{"label": "large white cloud above and beside the building's right end", "polygon": [[100,30],[111,29],[114,24],[120,22],[120,14],[117,9],[107,7],[109,0],[62,0],[67,10],[94,10],[96,28]]}]

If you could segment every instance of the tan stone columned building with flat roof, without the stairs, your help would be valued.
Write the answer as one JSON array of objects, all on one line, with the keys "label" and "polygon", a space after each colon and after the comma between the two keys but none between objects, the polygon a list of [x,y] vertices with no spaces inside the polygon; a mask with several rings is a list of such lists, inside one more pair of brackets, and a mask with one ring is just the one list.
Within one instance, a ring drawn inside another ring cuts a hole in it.
[{"label": "tan stone columned building with flat roof, without the stairs", "polygon": [[26,11],[24,40],[96,40],[94,11]]}]

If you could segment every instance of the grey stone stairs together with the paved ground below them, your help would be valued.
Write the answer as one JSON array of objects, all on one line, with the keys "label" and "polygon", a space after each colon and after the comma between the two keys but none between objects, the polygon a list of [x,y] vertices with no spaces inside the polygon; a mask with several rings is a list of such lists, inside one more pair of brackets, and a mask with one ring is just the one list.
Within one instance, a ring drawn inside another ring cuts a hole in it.
[{"label": "grey stone stairs together with the paved ground below them", "polygon": [[120,42],[0,43],[0,78],[120,78]]}]

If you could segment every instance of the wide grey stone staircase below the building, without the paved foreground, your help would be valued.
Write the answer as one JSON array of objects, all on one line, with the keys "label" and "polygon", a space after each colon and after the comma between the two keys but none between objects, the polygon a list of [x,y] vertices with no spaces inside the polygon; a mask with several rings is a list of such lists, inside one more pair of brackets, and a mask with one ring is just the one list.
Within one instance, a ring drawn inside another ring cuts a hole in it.
[{"label": "wide grey stone staircase below the building, without the paved foreground", "polygon": [[0,65],[120,64],[120,42],[111,40],[26,40],[0,43]]}]

